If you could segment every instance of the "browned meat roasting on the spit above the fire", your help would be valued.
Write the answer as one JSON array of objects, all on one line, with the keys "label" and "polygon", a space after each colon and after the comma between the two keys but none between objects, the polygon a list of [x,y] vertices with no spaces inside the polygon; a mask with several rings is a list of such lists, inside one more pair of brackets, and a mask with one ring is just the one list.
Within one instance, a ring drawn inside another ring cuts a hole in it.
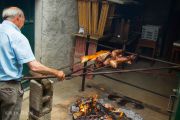
[{"label": "browned meat roasting on the spit above the fire", "polygon": [[122,63],[131,64],[135,59],[135,55],[123,56],[122,52],[121,49],[113,50],[112,52],[101,50],[93,55],[81,57],[81,63],[95,61],[96,67],[109,65],[113,68],[117,68],[118,65]]}]

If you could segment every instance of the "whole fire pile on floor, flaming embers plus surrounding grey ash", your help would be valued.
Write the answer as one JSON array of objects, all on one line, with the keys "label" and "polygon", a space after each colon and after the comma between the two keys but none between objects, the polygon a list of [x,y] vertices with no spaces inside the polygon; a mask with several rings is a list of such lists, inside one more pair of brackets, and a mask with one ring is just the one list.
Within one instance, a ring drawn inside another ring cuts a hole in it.
[{"label": "whole fire pile on floor, flaming embers plus surrounding grey ash", "polygon": [[79,98],[70,106],[73,120],[143,120],[131,110],[115,108],[97,96]]}]

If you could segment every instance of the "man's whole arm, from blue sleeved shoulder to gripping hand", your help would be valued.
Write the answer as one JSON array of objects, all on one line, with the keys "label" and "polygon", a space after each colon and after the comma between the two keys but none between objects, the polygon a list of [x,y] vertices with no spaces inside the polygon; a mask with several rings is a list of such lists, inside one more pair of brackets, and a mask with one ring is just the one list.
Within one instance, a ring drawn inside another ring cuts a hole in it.
[{"label": "man's whole arm, from blue sleeved shoulder to gripping hand", "polygon": [[65,75],[63,71],[46,67],[45,65],[35,60],[29,41],[23,34],[14,32],[12,36],[13,40],[11,41],[11,46],[19,64],[27,63],[30,70],[33,72],[44,75],[55,75],[60,80],[64,79]]}]

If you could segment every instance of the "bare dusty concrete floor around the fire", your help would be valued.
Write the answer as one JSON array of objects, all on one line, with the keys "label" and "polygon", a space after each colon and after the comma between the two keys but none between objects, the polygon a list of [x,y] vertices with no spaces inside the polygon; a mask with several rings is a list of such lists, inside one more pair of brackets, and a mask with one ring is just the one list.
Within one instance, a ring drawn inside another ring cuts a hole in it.
[{"label": "bare dusty concrete floor around the fire", "polygon": [[[155,64],[161,66],[162,64]],[[150,67],[147,62],[140,62],[133,65],[133,68]],[[130,68],[129,68],[130,69]],[[160,93],[164,96],[172,94],[172,89],[176,88],[177,80],[175,74],[172,72],[168,74],[167,71],[151,71],[151,72],[137,72],[137,73],[123,73],[113,74],[111,77],[117,78],[119,81],[114,81],[103,76],[95,76],[93,80],[86,81],[86,88],[81,92],[81,78],[77,77],[63,82],[54,84],[54,98],[52,120],[71,120],[72,116],[69,114],[70,105],[82,96],[92,96],[97,94],[99,97],[107,97],[108,94],[116,93],[125,95],[136,100],[143,101],[149,105],[157,106],[162,110],[167,109],[168,98],[153,94],[151,92],[124,84],[127,82],[141,88]],[[87,86],[88,85],[88,86]],[[24,95],[22,105],[22,113],[20,120],[27,120],[28,118],[28,98],[29,92]],[[131,108],[136,113],[139,113],[144,120],[168,120],[169,116],[156,112],[150,108],[137,110]]]}]

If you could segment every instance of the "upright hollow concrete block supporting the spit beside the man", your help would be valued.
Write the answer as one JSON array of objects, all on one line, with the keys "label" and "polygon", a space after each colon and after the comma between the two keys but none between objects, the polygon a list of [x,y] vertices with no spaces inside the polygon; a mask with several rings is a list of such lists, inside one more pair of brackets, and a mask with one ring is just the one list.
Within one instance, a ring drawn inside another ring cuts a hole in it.
[{"label": "upright hollow concrete block supporting the spit beside the man", "polygon": [[53,81],[43,79],[39,81],[31,80],[30,82],[30,111],[29,119],[43,119],[51,113],[53,97]]}]

